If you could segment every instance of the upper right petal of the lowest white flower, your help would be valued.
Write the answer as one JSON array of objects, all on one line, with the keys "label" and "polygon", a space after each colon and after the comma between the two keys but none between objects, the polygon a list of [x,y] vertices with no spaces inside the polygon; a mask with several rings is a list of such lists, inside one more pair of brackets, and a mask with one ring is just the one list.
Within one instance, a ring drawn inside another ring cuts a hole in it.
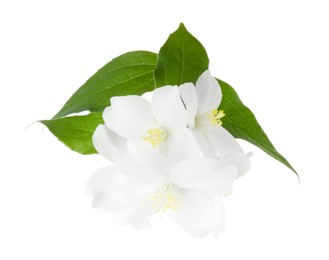
[{"label": "upper right petal of the lowest white flower", "polygon": [[173,166],[170,181],[181,189],[221,196],[231,191],[236,176],[231,164],[215,159],[185,160]]}]

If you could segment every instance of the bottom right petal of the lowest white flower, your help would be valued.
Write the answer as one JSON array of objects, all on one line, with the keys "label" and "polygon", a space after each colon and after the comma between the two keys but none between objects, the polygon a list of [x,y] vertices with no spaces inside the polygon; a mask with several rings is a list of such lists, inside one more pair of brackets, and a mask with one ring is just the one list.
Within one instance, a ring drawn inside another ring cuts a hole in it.
[{"label": "bottom right petal of the lowest white flower", "polygon": [[181,191],[180,195],[180,207],[168,212],[171,218],[194,237],[200,238],[208,234],[218,236],[225,219],[220,201],[189,190]]}]

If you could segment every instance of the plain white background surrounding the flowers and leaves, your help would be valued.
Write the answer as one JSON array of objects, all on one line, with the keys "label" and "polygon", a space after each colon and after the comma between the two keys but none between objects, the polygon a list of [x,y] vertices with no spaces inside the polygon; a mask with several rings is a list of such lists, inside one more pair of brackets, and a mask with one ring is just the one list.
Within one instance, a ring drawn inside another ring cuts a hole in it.
[{"label": "plain white background surrounding the flowers and leaves", "polygon": [[[0,259],[329,259],[327,2],[1,1]],[[158,52],[180,22],[301,178],[241,142],[253,165],[225,198],[218,240],[166,217],[116,226],[84,193],[107,161],[25,129],[112,58]]]}]

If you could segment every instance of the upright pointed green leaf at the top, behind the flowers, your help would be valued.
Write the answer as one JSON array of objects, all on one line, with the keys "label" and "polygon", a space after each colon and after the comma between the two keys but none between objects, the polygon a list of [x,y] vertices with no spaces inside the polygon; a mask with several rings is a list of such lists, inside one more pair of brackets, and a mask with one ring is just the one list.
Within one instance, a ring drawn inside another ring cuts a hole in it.
[{"label": "upright pointed green leaf at the top, behind the flowers", "polygon": [[202,44],[180,24],[160,49],[154,71],[156,87],[195,83],[208,69],[209,59]]}]

